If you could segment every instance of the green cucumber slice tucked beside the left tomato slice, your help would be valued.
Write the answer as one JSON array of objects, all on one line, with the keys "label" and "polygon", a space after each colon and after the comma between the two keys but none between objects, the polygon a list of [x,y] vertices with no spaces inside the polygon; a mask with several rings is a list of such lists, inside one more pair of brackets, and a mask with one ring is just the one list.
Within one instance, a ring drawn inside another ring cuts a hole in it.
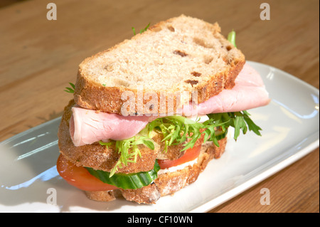
[{"label": "green cucumber slice tucked beside the left tomato slice", "polygon": [[85,169],[104,183],[117,186],[121,189],[140,189],[143,186],[148,186],[158,177],[160,166],[156,161],[154,163],[154,169],[151,169],[150,171],[141,171],[133,174],[118,173],[113,174],[111,177],[110,172],[107,171],[95,170],[90,167],[85,167]]}]

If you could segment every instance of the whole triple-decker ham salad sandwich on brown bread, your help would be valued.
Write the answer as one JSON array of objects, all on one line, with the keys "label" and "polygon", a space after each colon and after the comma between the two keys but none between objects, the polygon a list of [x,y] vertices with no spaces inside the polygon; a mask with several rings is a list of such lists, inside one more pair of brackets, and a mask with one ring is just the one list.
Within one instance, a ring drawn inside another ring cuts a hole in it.
[{"label": "whole triple-decker ham salad sandwich on brown bread", "polygon": [[270,99],[229,35],[181,15],[83,60],[58,130],[60,176],[95,201],[155,204],[196,181],[228,137],[260,136],[247,110]]}]

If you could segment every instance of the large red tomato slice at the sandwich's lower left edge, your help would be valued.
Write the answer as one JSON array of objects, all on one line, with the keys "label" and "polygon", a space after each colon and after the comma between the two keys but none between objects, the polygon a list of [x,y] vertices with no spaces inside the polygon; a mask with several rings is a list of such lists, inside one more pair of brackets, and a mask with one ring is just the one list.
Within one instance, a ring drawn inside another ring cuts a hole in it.
[{"label": "large red tomato slice at the sandwich's lower left edge", "polygon": [[69,184],[84,191],[109,191],[117,189],[116,186],[103,183],[92,176],[84,167],[77,167],[65,159],[62,154],[58,157],[57,170],[60,176]]}]

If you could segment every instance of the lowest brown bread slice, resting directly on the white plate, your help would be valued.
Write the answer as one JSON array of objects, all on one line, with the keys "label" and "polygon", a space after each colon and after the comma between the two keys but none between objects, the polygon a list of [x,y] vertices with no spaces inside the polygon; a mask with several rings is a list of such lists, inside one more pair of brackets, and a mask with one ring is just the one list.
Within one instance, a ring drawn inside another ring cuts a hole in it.
[{"label": "lowest brown bread slice, resting directly on the white plate", "polygon": [[197,162],[173,172],[159,174],[158,178],[148,186],[141,189],[116,189],[112,191],[85,191],[89,199],[95,201],[112,201],[123,197],[127,201],[138,204],[155,204],[161,196],[166,196],[179,191],[184,186],[192,184],[198,179],[201,171],[206,169],[211,159],[218,159],[225,151],[227,138],[219,140],[219,147],[213,142],[206,142],[201,147]]}]

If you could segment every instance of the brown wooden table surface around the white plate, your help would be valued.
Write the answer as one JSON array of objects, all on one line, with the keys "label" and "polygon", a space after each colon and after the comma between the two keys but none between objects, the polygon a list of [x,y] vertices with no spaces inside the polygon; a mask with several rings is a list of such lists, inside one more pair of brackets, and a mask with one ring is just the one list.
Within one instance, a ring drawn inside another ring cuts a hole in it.
[{"label": "brown wooden table surface around the white plate", "polygon": [[[247,60],[272,65],[319,89],[319,1],[1,1],[0,141],[59,117],[78,64],[144,28],[186,14],[237,31]],[[270,4],[270,20],[260,4]],[[297,129],[299,130],[299,129]],[[268,188],[269,206],[260,204]],[[319,148],[210,212],[319,212]]]}]

